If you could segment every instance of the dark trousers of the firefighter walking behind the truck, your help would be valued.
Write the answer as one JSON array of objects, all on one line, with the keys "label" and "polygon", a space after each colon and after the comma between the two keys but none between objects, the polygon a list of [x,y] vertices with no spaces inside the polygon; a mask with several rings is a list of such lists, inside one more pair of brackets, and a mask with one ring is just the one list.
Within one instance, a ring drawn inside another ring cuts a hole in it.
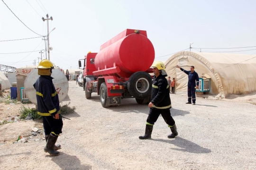
[{"label": "dark trousers of the firefighter walking behind the truck", "polygon": [[164,118],[165,122],[169,126],[171,126],[171,127],[174,126],[175,121],[174,121],[173,117],[171,116],[170,109],[150,108],[148,117],[146,119],[146,122],[151,124],[151,125],[154,125],[160,114],[162,115],[162,117]]}]

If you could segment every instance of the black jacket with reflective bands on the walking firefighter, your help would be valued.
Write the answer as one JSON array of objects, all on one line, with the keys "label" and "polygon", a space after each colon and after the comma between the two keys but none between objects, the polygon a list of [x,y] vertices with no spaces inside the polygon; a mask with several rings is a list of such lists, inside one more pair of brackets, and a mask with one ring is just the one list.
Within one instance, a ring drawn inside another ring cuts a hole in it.
[{"label": "black jacket with reflective bands on the walking firefighter", "polygon": [[151,96],[151,102],[154,104],[153,108],[170,109],[172,107],[169,88],[165,76],[161,74],[157,77],[154,76]]}]

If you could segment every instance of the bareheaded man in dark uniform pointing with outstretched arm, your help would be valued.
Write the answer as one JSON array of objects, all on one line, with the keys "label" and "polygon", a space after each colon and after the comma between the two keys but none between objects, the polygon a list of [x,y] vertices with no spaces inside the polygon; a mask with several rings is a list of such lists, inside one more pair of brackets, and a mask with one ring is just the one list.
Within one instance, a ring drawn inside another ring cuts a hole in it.
[{"label": "bareheaded man in dark uniform pointing with outstretched arm", "polygon": [[[199,85],[199,76],[197,72],[194,71],[195,67],[191,66],[190,71],[184,70],[183,68],[177,66],[177,68],[180,68],[184,73],[188,75],[188,102],[186,104],[192,104],[195,105],[195,91],[198,89]],[[191,103],[192,99],[192,103]]]}]

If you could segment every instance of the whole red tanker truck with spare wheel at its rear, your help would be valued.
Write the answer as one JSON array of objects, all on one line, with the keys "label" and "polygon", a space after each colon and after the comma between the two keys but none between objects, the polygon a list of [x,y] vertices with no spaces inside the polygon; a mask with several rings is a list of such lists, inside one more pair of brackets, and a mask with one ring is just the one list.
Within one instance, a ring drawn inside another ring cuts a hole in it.
[{"label": "whole red tanker truck with spare wheel at its rear", "polygon": [[148,73],[154,59],[146,31],[124,30],[101,45],[98,53],[89,52],[79,60],[86,99],[98,93],[104,108],[119,105],[125,98],[135,98],[138,104],[150,102],[152,76]]}]

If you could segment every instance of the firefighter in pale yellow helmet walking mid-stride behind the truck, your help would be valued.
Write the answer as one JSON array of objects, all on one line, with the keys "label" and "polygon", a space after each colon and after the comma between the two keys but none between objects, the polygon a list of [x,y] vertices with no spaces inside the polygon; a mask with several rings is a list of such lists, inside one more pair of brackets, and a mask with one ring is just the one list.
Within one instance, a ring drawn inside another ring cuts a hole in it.
[{"label": "firefighter in pale yellow helmet walking mid-stride behind the truck", "polygon": [[168,135],[168,138],[174,138],[178,135],[177,128],[175,125],[175,121],[171,116],[170,108],[171,99],[169,93],[169,85],[165,76],[167,76],[165,72],[165,65],[161,61],[155,61],[152,65],[154,70],[154,79],[152,81],[152,100],[148,104],[150,108],[148,117],[146,119],[146,131],[144,136],[139,136],[139,139],[150,139],[153,125],[161,114],[167,123],[168,127],[171,128],[172,134]]}]

